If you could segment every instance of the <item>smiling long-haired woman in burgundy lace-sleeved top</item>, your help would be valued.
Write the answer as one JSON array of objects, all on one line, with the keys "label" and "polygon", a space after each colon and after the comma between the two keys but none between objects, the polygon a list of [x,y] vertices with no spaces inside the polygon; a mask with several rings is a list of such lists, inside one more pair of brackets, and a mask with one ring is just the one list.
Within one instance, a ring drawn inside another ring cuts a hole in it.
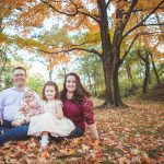
[{"label": "smiling long-haired woman in burgundy lace-sleeved top", "polygon": [[75,125],[75,129],[71,131],[68,138],[83,136],[86,122],[94,139],[98,140],[99,137],[94,120],[93,103],[90,99],[90,94],[82,86],[78,74],[69,73],[66,75],[60,98],[63,105],[65,117],[71,119]]}]

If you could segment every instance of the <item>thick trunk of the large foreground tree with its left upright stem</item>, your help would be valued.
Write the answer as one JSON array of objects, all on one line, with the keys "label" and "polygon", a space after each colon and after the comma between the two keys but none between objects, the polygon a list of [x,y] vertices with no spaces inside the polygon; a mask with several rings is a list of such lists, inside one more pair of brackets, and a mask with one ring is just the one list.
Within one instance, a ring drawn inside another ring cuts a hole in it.
[{"label": "thick trunk of the large foreground tree with its left upright stem", "polygon": [[[99,30],[102,38],[102,62],[105,77],[105,103],[107,107],[122,107],[118,89],[118,69],[119,69],[119,48],[118,45],[112,45],[108,34],[108,19],[105,0],[97,0],[99,12]],[[119,35],[118,35],[119,36]],[[115,58],[115,59],[114,59]]]}]

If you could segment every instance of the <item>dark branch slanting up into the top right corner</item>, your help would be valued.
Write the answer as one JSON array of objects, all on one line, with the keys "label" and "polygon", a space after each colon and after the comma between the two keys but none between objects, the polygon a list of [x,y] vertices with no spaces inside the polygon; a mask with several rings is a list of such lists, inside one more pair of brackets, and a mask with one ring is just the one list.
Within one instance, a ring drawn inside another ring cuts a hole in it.
[{"label": "dark branch slanting up into the top right corner", "polygon": [[136,26],[133,26],[131,30],[129,30],[124,36],[122,36],[122,39],[125,38],[125,37],[127,37],[131,32],[133,32],[136,28],[138,28],[138,27],[140,27],[142,24],[143,24],[143,22],[145,22],[148,19],[149,19],[149,16],[151,15],[151,14],[153,14],[159,8],[160,8],[160,5],[162,5],[164,3],[164,0],[162,0],[143,20],[141,20]]}]

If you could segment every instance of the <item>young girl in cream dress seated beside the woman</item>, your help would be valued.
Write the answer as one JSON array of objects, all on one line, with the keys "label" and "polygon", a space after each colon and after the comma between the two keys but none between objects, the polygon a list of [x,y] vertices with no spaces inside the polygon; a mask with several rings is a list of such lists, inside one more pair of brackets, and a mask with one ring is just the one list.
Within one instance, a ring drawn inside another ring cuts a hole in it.
[{"label": "young girl in cream dress seated beside the woman", "polygon": [[62,103],[59,101],[58,86],[48,81],[43,89],[44,114],[34,116],[28,127],[28,136],[42,136],[40,145],[49,143],[48,134],[52,137],[67,137],[75,128],[74,124],[63,117]]}]

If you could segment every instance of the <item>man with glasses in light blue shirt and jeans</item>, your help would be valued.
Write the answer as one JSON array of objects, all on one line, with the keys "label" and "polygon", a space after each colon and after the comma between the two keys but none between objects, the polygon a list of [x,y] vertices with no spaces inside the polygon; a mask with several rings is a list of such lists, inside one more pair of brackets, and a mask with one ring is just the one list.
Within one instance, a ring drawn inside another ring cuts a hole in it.
[{"label": "man with glasses in light blue shirt and jeans", "polygon": [[[26,84],[26,70],[22,67],[16,67],[13,70],[14,86],[4,90],[0,93],[0,130],[10,129],[0,134],[0,145],[9,140],[21,140],[27,138],[28,125],[22,125],[16,128],[12,127],[11,122],[14,120],[14,115],[19,110],[23,93],[28,90]],[[35,98],[40,106],[39,96],[35,94]]]}]

